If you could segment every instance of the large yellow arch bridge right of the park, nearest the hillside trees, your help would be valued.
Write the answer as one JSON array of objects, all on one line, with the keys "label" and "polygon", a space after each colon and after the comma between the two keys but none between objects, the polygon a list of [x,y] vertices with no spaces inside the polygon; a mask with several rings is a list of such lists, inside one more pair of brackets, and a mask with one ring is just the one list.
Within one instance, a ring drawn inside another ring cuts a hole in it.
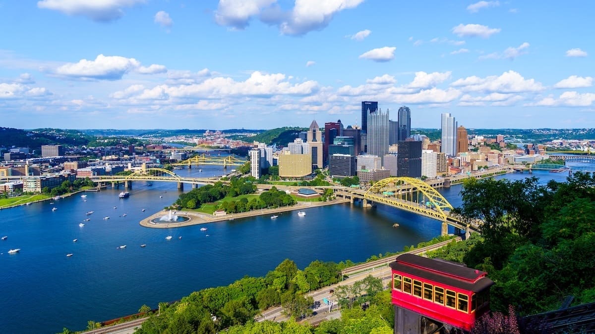
[{"label": "large yellow arch bridge right of the park, nearest the hillside trees", "polygon": [[349,190],[349,193],[351,196],[363,198],[367,201],[386,204],[440,220],[443,235],[448,233],[448,225],[467,232],[480,231],[481,221],[471,221],[451,213],[453,207],[446,198],[420,179],[409,177],[386,178],[376,182],[365,192]]}]

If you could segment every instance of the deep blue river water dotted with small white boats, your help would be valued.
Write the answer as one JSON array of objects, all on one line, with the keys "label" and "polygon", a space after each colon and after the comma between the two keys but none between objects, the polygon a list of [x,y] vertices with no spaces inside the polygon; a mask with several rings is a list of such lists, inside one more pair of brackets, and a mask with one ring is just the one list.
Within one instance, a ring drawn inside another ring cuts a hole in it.
[{"label": "deep blue river water dotted with small white boats", "polygon": [[[176,172],[208,177],[224,171],[211,166],[202,172]],[[533,175],[542,182],[567,176],[541,171]],[[136,313],[143,304],[156,307],[245,275],[263,276],[286,258],[300,268],[317,259],[364,261],[440,235],[436,220],[383,205],[364,209],[350,204],[307,209],[305,217],[287,212],[274,220],[258,216],[176,229],[144,228],[141,219],[177,199],[176,183],[135,182],[128,198],[118,198],[121,190],[107,188],[86,192],[86,198],[79,193],[0,210],[0,235],[8,237],[0,241],[0,332],[82,330],[88,320],[114,319]],[[460,190],[458,185],[440,191],[459,206]],[[94,213],[85,215],[89,211]],[[90,220],[83,222],[86,218]],[[392,227],[394,222],[399,228]],[[203,227],[208,230],[201,231]],[[173,238],[165,240],[168,235]],[[127,247],[118,248],[121,245]],[[8,254],[12,248],[21,251]],[[73,256],[67,257],[69,253]]]}]

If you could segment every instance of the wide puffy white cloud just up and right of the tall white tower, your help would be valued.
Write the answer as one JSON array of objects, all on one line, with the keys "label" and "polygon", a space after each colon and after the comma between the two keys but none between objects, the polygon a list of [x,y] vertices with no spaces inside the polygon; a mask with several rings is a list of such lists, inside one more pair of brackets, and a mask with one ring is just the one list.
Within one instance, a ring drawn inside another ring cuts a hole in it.
[{"label": "wide puffy white cloud just up and right of the tall white tower", "polygon": [[541,83],[534,79],[525,80],[515,71],[502,73],[500,76],[491,75],[486,78],[476,76],[456,80],[450,86],[461,87],[464,92],[496,92],[496,93],[521,93],[540,92],[544,89]]}]

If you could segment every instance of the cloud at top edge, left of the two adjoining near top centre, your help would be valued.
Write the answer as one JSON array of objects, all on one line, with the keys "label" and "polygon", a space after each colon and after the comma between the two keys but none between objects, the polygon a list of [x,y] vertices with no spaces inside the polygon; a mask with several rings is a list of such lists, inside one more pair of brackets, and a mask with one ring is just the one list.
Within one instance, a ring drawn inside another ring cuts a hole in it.
[{"label": "cloud at top edge, left of the two adjoining near top centre", "polygon": [[245,29],[250,18],[275,2],[277,0],[220,0],[215,21],[221,26]]}]

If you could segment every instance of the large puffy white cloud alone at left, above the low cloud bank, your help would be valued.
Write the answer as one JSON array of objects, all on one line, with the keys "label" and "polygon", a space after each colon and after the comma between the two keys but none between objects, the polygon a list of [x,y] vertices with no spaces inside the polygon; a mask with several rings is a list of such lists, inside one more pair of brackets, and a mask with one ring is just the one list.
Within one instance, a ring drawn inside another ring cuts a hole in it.
[{"label": "large puffy white cloud alone at left, above the low cloud bank", "polygon": [[143,67],[134,58],[100,54],[95,60],[81,59],[77,63],[64,64],[56,68],[54,73],[62,77],[82,80],[118,80],[130,72],[155,74],[165,71],[167,69],[164,65],[152,64],[149,67]]}]

